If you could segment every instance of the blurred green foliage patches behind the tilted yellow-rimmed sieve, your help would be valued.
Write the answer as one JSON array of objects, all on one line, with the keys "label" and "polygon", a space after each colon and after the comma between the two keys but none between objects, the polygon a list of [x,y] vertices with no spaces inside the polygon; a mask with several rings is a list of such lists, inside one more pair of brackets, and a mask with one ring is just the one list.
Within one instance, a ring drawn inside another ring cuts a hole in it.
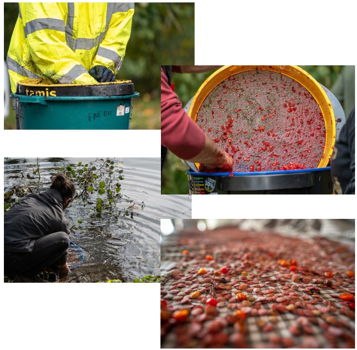
[{"label": "blurred green foliage patches behind the tilted yellow-rimmed sieve", "polygon": [[[319,83],[331,89],[343,66],[299,66],[311,74]],[[214,72],[201,74],[173,74],[172,82],[183,107],[195,96],[201,84]],[[187,194],[189,192],[186,171],[188,167],[182,160],[168,152],[165,166],[162,170],[162,194]]]}]

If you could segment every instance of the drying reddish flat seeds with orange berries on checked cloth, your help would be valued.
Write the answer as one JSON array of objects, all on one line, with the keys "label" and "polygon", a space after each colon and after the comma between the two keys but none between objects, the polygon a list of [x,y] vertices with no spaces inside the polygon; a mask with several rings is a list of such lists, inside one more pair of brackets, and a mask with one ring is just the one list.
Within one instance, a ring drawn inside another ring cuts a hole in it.
[{"label": "drying reddish flat seeds with orange berries on checked cloth", "polygon": [[355,348],[354,249],[236,228],[168,240],[161,348]]}]

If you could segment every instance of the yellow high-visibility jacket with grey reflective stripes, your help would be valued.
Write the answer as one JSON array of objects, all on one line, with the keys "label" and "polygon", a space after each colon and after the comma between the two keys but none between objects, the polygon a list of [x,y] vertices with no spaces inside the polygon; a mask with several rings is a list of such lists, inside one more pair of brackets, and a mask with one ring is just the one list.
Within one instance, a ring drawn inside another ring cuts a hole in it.
[{"label": "yellow high-visibility jacket with grey reflective stripes", "polygon": [[88,71],[116,75],[130,38],[132,2],[23,2],[7,54],[12,92],[23,79],[97,83]]}]

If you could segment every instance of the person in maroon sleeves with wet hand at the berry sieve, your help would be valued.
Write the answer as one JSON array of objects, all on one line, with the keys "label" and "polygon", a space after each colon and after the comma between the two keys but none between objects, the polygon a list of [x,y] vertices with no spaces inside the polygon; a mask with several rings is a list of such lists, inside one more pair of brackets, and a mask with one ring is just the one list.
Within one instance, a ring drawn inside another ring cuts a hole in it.
[{"label": "person in maroon sleeves with wet hand at the berry sieve", "polygon": [[200,172],[231,172],[233,159],[187,115],[171,89],[171,74],[202,73],[221,66],[161,66],[161,171],[167,149],[175,156],[200,163]]}]

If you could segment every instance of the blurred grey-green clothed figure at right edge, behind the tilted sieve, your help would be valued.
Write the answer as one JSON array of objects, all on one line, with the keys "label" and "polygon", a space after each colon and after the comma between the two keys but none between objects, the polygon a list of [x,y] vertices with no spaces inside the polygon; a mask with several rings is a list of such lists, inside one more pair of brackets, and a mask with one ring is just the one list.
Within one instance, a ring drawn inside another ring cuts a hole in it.
[{"label": "blurred grey-green clothed figure at right edge, behind the tilted sieve", "polygon": [[355,106],[355,66],[343,66],[331,92],[342,104],[346,118]]}]

